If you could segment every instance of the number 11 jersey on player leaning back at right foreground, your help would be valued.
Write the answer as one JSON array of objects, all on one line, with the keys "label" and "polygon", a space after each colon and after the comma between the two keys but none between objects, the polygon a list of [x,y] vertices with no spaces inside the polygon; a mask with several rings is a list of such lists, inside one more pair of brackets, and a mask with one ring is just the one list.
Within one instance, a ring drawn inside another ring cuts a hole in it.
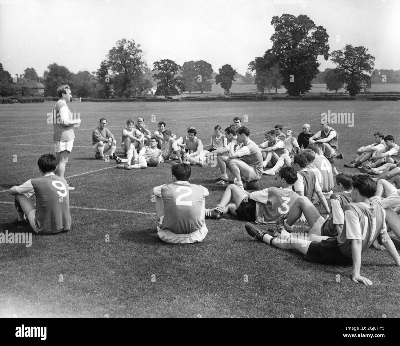
[{"label": "number 11 jersey on player leaning back at right foreground", "polygon": [[368,249],[379,233],[386,230],[386,212],[381,205],[348,203],[344,206],[344,226],[338,236],[339,249],[346,257],[352,257],[352,239],[361,239],[361,253]]}]

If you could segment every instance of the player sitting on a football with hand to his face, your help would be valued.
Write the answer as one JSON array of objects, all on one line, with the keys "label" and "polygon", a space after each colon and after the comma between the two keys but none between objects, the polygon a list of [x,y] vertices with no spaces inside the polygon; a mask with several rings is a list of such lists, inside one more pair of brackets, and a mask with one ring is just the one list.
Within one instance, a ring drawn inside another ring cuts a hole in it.
[{"label": "player sitting on a football with hand to his face", "polygon": [[250,130],[241,126],[237,131],[240,145],[234,149],[236,140],[229,148],[227,168],[234,175],[234,184],[244,189],[242,177],[246,182],[260,180],[262,175],[262,154],[260,148],[250,139]]}]

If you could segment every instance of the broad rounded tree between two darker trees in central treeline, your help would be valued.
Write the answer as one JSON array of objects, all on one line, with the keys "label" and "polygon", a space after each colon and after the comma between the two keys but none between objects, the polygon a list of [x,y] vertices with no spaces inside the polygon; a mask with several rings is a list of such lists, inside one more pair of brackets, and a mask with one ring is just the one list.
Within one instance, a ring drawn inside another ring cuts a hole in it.
[{"label": "broad rounded tree between two darker trees in central treeline", "polygon": [[187,61],[182,65],[182,80],[185,90],[192,91],[211,91],[212,66],[204,60],[196,62]]}]

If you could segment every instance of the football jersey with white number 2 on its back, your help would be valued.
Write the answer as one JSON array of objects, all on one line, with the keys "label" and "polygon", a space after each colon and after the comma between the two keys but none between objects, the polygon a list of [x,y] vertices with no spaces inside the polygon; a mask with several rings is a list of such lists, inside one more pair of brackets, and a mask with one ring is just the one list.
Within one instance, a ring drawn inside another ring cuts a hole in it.
[{"label": "football jersey with white number 2 on its back", "polygon": [[160,229],[189,234],[205,226],[203,201],[208,196],[205,187],[188,181],[176,181],[155,187],[153,192],[164,203],[164,219]]}]

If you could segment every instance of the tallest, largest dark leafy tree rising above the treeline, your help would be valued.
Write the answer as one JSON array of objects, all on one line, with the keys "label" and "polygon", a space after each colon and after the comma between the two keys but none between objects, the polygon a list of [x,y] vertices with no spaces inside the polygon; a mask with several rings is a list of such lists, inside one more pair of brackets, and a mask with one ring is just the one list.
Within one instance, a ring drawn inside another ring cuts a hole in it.
[{"label": "tallest, largest dark leafy tree rising above the treeline", "polygon": [[269,67],[278,63],[282,84],[290,96],[304,94],[312,88],[311,81],[319,72],[318,56],[328,60],[329,36],[304,14],[274,16],[271,24],[275,29],[271,36],[274,60],[269,61]]}]

